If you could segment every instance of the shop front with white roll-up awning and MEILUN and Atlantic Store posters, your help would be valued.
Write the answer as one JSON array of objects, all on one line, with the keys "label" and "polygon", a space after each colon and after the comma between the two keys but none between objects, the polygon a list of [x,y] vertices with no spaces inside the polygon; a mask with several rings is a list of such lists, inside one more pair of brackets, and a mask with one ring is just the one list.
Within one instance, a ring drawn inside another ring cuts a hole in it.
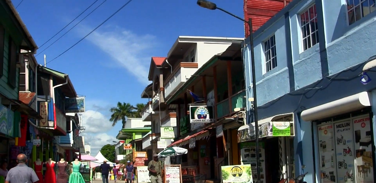
[{"label": "shop front with white roll-up awning and MEILUN and Atlantic Store posters", "polygon": [[318,183],[374,182],[373,95],[361,92],[302,111],[302,123],[312,127]]}]

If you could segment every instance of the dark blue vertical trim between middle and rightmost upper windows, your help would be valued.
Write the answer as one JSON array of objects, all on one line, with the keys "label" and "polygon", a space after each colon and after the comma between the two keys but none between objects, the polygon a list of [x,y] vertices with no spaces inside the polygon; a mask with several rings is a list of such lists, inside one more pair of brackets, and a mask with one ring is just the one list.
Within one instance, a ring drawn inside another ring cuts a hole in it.
[{"label": "dark blue vertical trim between middle and rightmost upper windows", "polygon": [[325,41],[325,27],[324,27],[324,11],[322,0],[315,0],[317,12],[317,27],[318,27],[318,42],[320,47],[320,60],[321,60],[321,75],[322,77],[329,76],[329,66],[326,52]]}]

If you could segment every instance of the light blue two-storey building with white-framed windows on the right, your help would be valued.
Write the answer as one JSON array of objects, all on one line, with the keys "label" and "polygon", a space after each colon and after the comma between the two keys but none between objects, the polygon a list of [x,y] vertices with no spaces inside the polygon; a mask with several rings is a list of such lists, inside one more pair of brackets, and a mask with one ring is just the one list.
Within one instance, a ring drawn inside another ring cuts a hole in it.
[{"label": "light blue two-storey building with white-framed windows on the right", "polygon": [[[376,81],[367,80],[376,80],[375,10],[374,0],[294,0],[253,34],[265,183],[296,177],[302,165],[308,183],[376,180]],[[249,38],[243,50],[252,98]],[[254,139],[250,116],[240,143]]]}]

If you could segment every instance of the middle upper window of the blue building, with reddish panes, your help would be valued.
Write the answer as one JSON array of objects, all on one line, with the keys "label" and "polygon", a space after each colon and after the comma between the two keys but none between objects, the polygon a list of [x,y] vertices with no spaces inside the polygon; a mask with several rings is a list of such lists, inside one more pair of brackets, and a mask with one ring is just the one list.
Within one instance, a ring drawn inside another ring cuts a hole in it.
[{"label": "middle upper window of the blue building, with reddish panes", "polygon": [[312,5],[300,14],[300,27],[302,28],[303,51],[318,43],[316,5]]}]

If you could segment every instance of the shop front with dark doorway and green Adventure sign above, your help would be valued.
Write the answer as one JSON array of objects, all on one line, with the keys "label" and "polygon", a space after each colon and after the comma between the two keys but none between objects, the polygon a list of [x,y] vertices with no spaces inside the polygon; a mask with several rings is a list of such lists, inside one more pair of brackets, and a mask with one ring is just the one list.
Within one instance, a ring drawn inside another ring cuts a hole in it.
[{"label": "shop front with dark doorway and green Adventure sign above", "polygon": [[[260,176],[264,183],[295,177],[294,113],[280,114],[258,121],[260,175],[256,172],[255,124],[238,129],[241,165],[250,164],[253,181]],[[279,162],[279,163],[276,163]]]}]

